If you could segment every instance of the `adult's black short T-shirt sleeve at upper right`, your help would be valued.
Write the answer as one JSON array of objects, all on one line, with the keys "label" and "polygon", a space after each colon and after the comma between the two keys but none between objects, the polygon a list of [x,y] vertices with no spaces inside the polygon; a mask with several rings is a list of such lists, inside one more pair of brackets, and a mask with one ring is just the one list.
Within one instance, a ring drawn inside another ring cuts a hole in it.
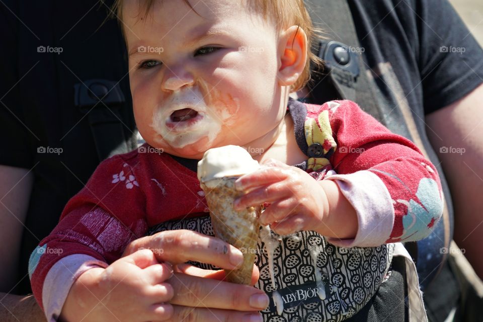
[{"label": "adult's black short T-shirt sleeve at upper right", "polygon": [[447,0],[410,2],[419,19],[419,69],[425,113],[454,103],[483,83],[483,50]]}]

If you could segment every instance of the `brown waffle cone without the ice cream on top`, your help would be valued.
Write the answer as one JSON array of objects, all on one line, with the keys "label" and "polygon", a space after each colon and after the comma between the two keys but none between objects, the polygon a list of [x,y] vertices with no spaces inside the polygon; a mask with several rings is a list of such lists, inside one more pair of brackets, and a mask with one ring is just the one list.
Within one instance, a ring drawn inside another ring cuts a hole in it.
[{"label": "brown waffle cone without the ice cream on top", "polygon": [[233,201],[242,193],[236,191],[234,182],[237,178],[216,180],[216,185],[201,184],[205,192],[211,223],[215,236],[233,245],[243,253],[243,265],[235,270],[226,270],[226,281],[249,285],[252,280],[253,264],[260,225],[258,217],[260,207],[249,207],[240,211],[233,209]]}]

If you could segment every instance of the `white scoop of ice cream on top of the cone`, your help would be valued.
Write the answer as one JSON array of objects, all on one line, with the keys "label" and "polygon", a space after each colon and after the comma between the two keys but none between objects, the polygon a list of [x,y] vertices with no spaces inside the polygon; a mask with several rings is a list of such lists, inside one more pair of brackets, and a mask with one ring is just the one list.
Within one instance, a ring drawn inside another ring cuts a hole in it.
[{"label": "white scoop of ice cream on top of the cone", "polygon": [[198,180],[207,183],[213,179],[239,177],[259,168],[258,162],[241,146],[215,147],[207,150],[198,163]]}]

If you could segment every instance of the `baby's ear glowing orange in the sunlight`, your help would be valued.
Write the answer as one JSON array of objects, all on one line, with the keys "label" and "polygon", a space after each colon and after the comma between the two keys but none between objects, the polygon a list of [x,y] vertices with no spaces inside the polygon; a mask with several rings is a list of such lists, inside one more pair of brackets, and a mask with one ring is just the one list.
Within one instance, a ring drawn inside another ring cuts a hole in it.
[{"label": "baby's ear glowing orange in the sunlight", "polygon": [[307,62],[307,37],[303,29],[292,26],[283,31],[278,49],[280,53],[278,84],[291,86],[297,81]]}]

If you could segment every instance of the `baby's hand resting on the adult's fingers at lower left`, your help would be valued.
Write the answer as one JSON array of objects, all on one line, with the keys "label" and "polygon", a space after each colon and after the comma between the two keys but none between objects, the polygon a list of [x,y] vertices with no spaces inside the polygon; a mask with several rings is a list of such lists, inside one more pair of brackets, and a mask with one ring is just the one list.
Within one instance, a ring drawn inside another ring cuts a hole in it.
[{"label": "baby's hand resting on the adult's fingers at lower left", "polygon": [[83,273],[70,288],[61,319],[72,321],[153,321],[173,314],[173,274],[150,250],[123,257],[108,268]]}]

